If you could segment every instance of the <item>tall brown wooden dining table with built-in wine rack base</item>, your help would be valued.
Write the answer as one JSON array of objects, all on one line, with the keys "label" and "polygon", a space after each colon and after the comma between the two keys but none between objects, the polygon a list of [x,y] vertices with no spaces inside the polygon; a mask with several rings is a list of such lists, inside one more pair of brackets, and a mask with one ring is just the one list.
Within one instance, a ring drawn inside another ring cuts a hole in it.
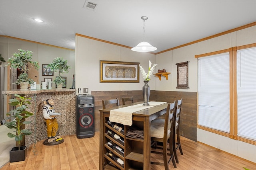
[{"label": "tall brown wooden dining table with built-in wine rack base", "polygon": [[[137,102],[134,104],[142,104],[143,102]],[[128,104],[131,106],[134,104]],[[127,107],[121,106],[121,107]],[[118,106],[120,107],[120,106]],[[130,126],[124,125],[124,134],[113,128],[107,122],[109,121],[109,115],[111,109],[116,109],[118,107],[113,107],[109,109],[100,110],[100,159],[99,159],[99,169],[100,170],[149,170],[150,165],[150,135],[148,129],[150,129],[150,121],[156,117],[166,113],[167,104],[160,106],[155,106],[147,110],[142,110],[136,112],[133,115],[132,126],[138,127],[139,130],[144,131],[144,139],[134,139],[131,137],[126,137],[126,133]],[[124,139],[124,145],[116,141],[108,131],[116,133],[118,136]],[[118,151],[112,149],[108,145],[108,142],[118,145],[120,148],[124,149],[124,156]],[[112,152],[115,156],[118,156],[124,161],[124,167],[115,162],[107,153]]]}]

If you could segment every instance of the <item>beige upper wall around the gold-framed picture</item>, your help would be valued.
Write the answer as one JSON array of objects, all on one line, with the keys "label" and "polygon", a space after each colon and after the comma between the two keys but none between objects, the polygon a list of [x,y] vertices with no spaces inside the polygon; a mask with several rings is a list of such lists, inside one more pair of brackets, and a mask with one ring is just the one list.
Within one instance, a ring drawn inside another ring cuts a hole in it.
[{"label": "beige upper wall around the gold-framed picture", "polygon": [[[101,90],[142,90],[144,85],[140,74],[140,83],[100,83],[100,60],[128,61],[142,64],[148,69],[148,60],[155,63],[155,55],[138,53],[131,49],[76,36],[76,91],[78,88]],[[156,70],[159,67],[156,67]],[[152,76],[149,86],[155,90],[155,78]],[[82,90],[83,91],[83,90]]]}]

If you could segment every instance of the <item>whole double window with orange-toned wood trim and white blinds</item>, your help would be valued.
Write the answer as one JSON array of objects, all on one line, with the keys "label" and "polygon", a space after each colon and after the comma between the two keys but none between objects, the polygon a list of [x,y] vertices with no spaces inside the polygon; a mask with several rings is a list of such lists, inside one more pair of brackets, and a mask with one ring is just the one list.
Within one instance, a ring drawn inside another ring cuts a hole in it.
[{"label": "whole double window with orange-toned wood trim and white blinds", "polygon": [[256,145],[256,43],[195,57],[198,128]]}]

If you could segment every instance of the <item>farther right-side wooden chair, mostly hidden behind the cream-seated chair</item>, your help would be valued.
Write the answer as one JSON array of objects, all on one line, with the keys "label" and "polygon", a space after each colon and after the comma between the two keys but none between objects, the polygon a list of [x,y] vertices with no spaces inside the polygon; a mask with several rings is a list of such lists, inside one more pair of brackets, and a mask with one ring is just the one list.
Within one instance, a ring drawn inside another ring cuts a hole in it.
[{"label": "farther right-side wooden chair, mostly hidden behind the cream-seated chair", "polygon": [[[174,151],[174,157],[177,163],[179,163],[178,156],[177,156],[177,150],[180,150],[180,154],[183,155],[181,145],[180,145],[180,115],[181,115],[181,106],[182,106],[182,99],[176,101],[176,120],[174,123],[174,128],[173,128],[173,138],[172,138],[172,143],[173,143],[173,151]],[[175,135],[176,134],[176,135]],[[176,137],[175,137],[176,136]],[[177,141],[176,141],[177,140]]]}]

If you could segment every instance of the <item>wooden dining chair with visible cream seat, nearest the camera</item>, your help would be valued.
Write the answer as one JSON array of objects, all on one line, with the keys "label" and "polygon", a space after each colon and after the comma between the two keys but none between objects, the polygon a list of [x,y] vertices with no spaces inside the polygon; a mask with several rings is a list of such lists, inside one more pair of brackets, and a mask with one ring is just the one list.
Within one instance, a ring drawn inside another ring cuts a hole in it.
[{"label": "wooden dining chair with visible cream seat, nearest the camera", "polygon": [[[175,113],[176,113],[176,102],[174,101],[171,104],[168,104],[167,111],[165,114],[165,119],[164,119],[164,127],[163,126],[158,126],[158,125],[152,125],[150,126],[150,133],[151,133],[151,143],[156,143],[155,148],[161,149],[160,151],[155,151],[154,149],[151,150],[151,153],[156,153],[156,154],[162,154],[164,163],[162,162],[150,162],[151,164],[156,164],[156,165],[164,165],[165,170],[169,170],[168,165],[170,161],[172,160],[172,164],[174,168],[176,167],[176,163],[174,160],[174,153],[173,153],[173,147],[172,147],[172,138],[173,138],[173,123]],[[154,120],[153,120],[154,121]],[[160,142],[163,144],[163,146],[158,146],[157,142]],[[168,153],[168,143],[169,143],[169,152]],[[170,156],[168,158],[168,156]]]}]

